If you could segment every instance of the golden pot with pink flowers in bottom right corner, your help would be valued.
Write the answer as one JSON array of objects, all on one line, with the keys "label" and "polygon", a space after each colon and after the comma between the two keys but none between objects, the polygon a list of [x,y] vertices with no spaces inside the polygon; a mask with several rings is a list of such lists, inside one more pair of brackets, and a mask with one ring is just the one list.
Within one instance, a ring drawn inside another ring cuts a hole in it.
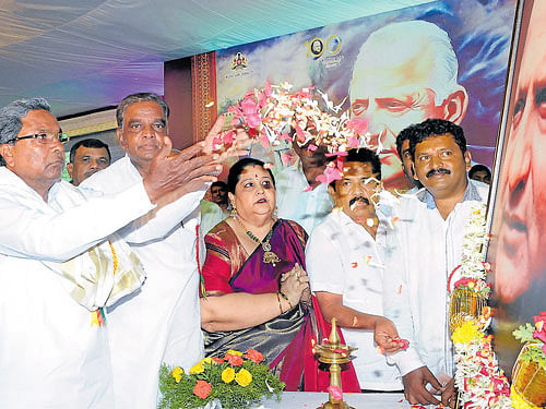
[{"label": "golden pot with pink flowers in bottom right corner", "polygon": [[512,395],[527,408],[546,406],[546,311],[534,317],[535,325],[525,324],[513,332],[525,342],[512,372]]}]

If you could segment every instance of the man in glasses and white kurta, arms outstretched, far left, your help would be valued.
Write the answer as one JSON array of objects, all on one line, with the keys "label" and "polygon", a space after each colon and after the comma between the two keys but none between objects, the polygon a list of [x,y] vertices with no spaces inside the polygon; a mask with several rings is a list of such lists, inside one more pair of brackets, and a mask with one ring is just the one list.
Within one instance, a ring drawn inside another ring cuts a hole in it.
[{"label": "man in glasses and white kurta, arms outstretched, far left", "polygon": [[[100,308],[118,287],[131,292],[141,280],[124,287],[117,278],[131,279],[140,266],[109,234],[152,212],[162,197],[173,200],[214,181],[206,173],[218,169],[209,165],[210,156],[188,160],[201,147],[168,157],[166,141],[145,178],[115,195],[87,200],[60,181],[62,140],[45,99],[17,100],[0,110],[2,408],[114,407]],[[105,268],[87,263],[92,256]],[[96,276],[104,280],[93,281]]]}]

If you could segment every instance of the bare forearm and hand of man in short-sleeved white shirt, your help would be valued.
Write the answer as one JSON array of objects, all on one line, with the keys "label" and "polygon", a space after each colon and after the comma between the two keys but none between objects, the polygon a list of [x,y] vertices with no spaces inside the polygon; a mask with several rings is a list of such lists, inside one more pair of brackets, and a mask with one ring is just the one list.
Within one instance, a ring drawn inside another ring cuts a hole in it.
[{"label": "bare forearm and hand of man in short-sleeved white shirt", "polygon": [[342,328],[373,330],[373,339],[385,352],[392,353],[402,347],[402,344],[397,342],[400,337],[396,327],[384,316],[365,314],[343,305],[342,294],[318,291],[316,296],[327,321],[335,317]]}]

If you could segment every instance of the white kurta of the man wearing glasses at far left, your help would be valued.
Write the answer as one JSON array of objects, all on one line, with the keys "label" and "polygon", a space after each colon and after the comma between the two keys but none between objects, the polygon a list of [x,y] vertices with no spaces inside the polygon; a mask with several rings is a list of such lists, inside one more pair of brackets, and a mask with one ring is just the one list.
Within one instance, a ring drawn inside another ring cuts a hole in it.
[{"label": "white kurta of the man wearing glasses at far left", "polygon": [[56,183],[46,203],[0,168],[0,408],[114,407],[108,328],[43,261],[86,251],[153,205],[142,183],[90,201],[75,189]]}]

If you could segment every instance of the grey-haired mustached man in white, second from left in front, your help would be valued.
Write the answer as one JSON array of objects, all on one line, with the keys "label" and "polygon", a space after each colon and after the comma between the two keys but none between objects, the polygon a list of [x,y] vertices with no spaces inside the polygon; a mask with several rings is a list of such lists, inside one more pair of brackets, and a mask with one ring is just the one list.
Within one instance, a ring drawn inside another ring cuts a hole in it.
[{"label": "grey-haired mustached man in white, second from left in front", "polygon": [[[168,113],[155,94],[123,98],[116,117],[127,155],[82,187],[115,194],[146,179],[153,158],[165,148]],[[211,137],[222,124],[221,117]],[[197,260],[204,260],[204,253],[195,244],[199,204],[207,187],[200,188],[120,232],[147,277],[140,293],[108,309],[116,408],[155,408],[162,362],[189,369],[203,356]]]}]

